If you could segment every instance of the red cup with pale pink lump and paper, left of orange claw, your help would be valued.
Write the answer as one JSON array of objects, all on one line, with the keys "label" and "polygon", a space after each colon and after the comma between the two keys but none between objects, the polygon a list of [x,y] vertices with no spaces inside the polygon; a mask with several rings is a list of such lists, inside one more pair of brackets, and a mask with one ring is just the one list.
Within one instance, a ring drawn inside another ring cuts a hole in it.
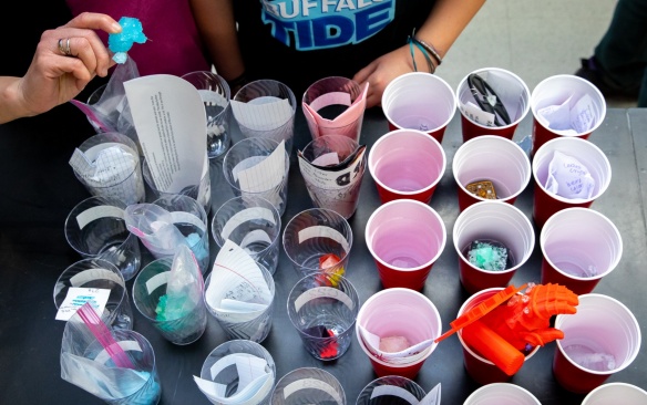
[{"label": "red cup with pale pink lump and paper, left of orange claw", "polygon": [[411,344],[437,339],[442,330],[440,313],[433,302],[411,289],[381,290],[361,305],[355,331],[359,345],[369,357],[373,371],[378,377],[400,375],[410,380],[415,378],[438,343],[428,346],[427,353],[412,363],[392,364],[378,359],[368,350],[359,331],[360,325],[378,336],[404,336]]}]

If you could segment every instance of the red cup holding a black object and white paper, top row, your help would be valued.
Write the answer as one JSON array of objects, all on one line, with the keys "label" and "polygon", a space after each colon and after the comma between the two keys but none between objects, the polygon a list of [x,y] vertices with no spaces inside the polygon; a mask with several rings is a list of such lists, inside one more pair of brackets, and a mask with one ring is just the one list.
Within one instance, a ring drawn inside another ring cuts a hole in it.
[{"label": "red cup holding a black object and white paper, top row", "polygon": [[[511,123],[503,126],[487,126],[479,123],[481,108],[472,95],[468,76],[477,74],[496,92],[505,107]],[[496,135],[512,139],[518,123],[525,118],[531,108],[531,91],[516,74],[499,68],[484,68],[471,72],[459,83],[456,98],[461,111],[461,129],[463,142],[481,135]],[[474,110],[475,108],[475,110]]]}]

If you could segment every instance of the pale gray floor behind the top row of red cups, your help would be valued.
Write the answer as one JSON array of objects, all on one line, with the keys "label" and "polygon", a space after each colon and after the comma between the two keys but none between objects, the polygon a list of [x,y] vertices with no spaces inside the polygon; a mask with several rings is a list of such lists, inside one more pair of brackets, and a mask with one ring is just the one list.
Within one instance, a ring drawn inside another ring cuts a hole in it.
[{"label": "pale gray floor behind the top row of red cups", "polygon": [[[470,1],[470,0],[463,0]],[[593,53],[617,0],[490,0],[445,55],[437,74],[456,89],[468,73],[501,68],[532,90],[555,74],[573,74]],[[636,103],[607,101],[607,107]]]}]

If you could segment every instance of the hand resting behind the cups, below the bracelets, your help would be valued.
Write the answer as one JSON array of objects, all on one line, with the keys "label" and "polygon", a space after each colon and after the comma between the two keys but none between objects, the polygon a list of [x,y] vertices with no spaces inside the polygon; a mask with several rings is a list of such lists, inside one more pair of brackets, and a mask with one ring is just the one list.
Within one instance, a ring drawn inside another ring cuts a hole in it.
[{"label": "hand resting behind the cups, below the bracelets", "polygon": [[367,108],[380,105],[382,93],[391,81],[401,74],[413,72],[409,45],[401,46],[372,61],[352,77],[362,89],[369,83]]}]

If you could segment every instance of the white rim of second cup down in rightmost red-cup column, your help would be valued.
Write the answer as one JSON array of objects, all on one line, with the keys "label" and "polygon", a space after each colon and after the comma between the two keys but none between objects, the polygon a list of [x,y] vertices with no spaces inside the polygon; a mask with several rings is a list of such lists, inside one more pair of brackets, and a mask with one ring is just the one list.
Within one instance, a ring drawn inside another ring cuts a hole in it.
[{"label": "white rim of second cup down in rightmost red-cup column", "polygon": [[[558,152],[559,148],[555,145],[558,145],[559,143],[567,143],[567,142],[575,142],[576,144],[579,144],[581,147],[586,147],[588,148],[589,152],[593,152],[595,154],[597,154],[603,163],[604,166],[608,167],[608,176],[606,178],[606,181],[604,181],[603,184],[599,185],[598,187],[598,191],[590,196],[590,198],[565,198],[562,196],[558,196],[556,194],[552,194],[548,193],[545,188],[545,186],[542,184],[542,181],[540,181],[540,179],[537,178],[537,172],[540,169],[540,159],[538,156],[541,153],[545,152],[545,150],[550,150],[551,152]],[[551,149],[551,147],[554,147],[553,149]],[[542,191],[544,191],[545,194],[547,194],[548,196],[551,196],[552,198],[556,199],[559,202],[564,202],[564,204],[585,204],[585,202],[592,202],[595,199],[597,199],[599,196],[602,196],[607,188],[609,187],[609,184],[612,183],[612,164],[608,159],[608,157],[606,156],[606,154],[604,153],[604,150],[602,150],[597,145],[595,145],[593,142],[587,141],[587,139],[583,139],[581,137],[575,137],[575,136],[559,136],[556,138],[553,138],[551,141],[547,141],[546,143],[544,143],[542,146],[540,146],[540,148],[535,152],[534,157],[533,157],[533,163],[532,163],[532,169],[533,169],[533,179],[535,180],[535,185],[537,187],[541,188]]]}]

